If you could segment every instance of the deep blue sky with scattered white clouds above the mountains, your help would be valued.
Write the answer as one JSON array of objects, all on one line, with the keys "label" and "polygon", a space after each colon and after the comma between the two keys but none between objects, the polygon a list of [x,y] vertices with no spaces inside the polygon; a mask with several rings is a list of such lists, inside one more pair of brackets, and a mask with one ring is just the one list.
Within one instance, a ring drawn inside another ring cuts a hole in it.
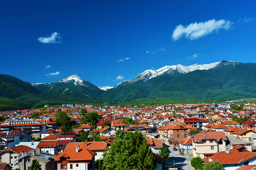
[{"label": "deep blue sky with scattered white clouds above the mountains", "polygon": [[256,1],[2,1],[0,74],[115,86],[165,65],[256,63]]}]

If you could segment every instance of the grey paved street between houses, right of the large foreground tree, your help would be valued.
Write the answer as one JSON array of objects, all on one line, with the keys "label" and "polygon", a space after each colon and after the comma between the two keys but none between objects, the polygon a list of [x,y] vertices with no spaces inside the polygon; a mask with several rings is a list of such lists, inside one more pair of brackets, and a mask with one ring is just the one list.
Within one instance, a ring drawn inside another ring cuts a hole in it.
[{"label": "grey paved street between houses, right of the large foreground tree", "polygon": [[169,168],[169,170],[174,170],[174,169],[177,170],[177,167],[181,167],[182,169],[185,169],[185,170],[194,170],[190,164],[190,160],[192,159],[192,157],[190,157],[188,161],[186,156],[180,155],[178,151],[173,151],[173,149],[169,145],[164,144],[164,147],[167,147],[167,149],[170,152],[169,153],[170,159],[166,161],[166,164],[173,163],[173,161],[175,163],[175,168]]}]

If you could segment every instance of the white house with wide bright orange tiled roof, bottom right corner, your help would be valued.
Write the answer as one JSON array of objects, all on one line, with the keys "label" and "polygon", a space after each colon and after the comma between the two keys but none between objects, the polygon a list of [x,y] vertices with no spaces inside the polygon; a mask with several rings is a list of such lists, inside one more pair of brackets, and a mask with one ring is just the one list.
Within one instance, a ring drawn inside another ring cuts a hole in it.
[{"label": "white house with wide bright orange tiled roof, bottom right corner", "polygon": [[235,170],[244,165],[256,165],[256,153],[246,149],[246,147],[236,145],[233,148],[216,153],[203,160],[205,162],[218,160],[225,167],[225,170]]}]

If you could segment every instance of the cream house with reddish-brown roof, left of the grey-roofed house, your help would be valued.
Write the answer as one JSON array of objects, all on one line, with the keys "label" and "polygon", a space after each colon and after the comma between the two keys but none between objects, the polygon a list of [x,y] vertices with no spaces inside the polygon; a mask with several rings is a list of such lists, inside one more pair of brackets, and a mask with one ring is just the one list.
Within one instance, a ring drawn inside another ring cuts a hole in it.
[{"label": "cream house with reddish-brown roof, left of the grey-roofed house", "polygon": [[14,169],[18,168],[18,165],[16,165],[16,162],[14,162],[17,159],[17,156],[20,155],[20,152],[27,152],[29,150],[32,150],[33,148],[30,148],[28,146],[15,146],[9,149],[6,149],[0,153],[1,162],[5,162],[12,166]]}]

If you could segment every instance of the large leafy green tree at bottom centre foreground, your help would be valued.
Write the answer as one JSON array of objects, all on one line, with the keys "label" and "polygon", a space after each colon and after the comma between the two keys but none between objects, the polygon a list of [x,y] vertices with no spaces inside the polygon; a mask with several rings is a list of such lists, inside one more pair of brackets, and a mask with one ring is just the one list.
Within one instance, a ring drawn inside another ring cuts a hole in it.
[{"label": "large leafy green tree at bottom centre foreground", "polygon": [[108,152],[103,153],[106,170],[157,170],[157,161],[141,132],[116,131]]}]

